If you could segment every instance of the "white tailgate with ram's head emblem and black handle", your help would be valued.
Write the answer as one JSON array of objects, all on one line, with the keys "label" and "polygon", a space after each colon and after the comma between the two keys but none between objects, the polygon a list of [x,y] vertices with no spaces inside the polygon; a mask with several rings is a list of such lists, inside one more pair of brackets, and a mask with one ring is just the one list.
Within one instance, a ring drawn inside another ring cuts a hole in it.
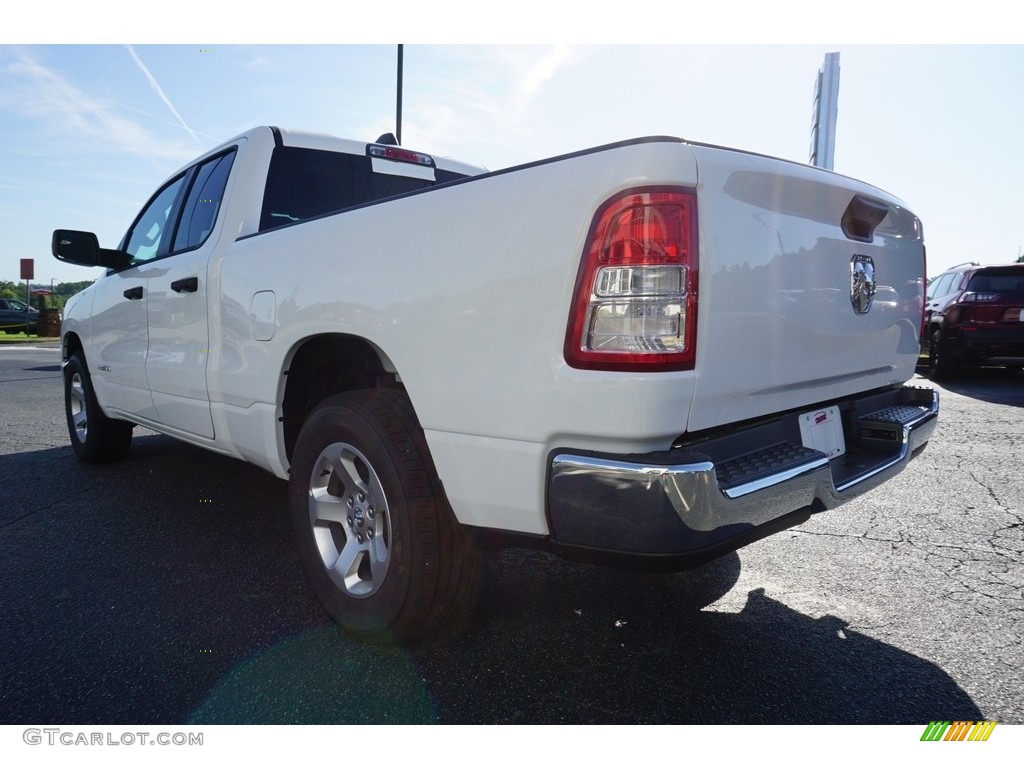
[{"label": "white tailgate with ram's head emblem and black handle", "polygon": [[693,152],[701,258],[689,431],[911,378],[925,275],[916,217],[838,174]]}]

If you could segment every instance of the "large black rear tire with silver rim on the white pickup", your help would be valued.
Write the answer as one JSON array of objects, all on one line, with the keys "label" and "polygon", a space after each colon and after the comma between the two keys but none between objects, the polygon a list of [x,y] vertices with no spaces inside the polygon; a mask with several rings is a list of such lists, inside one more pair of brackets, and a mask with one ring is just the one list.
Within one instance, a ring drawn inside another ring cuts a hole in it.
[{"label": "large black rear tire with silver rim on the white pickup", "polygon": [[306,577],[346,632],[407,642],[450,629],[471,607],[478,557],[401,392],[317,406],[295,446],[289,495]]}]

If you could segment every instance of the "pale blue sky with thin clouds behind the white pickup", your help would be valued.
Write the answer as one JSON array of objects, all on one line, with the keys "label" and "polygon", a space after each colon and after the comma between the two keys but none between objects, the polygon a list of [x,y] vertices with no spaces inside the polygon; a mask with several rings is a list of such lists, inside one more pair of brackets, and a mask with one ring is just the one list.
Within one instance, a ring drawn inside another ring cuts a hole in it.
[{"label": "pale blue sky with thin clouds behind the white pickup", "polygon": [[[494,25],[481,44],[407,43],[402,143],[495,170],[651,134],[807,162],[817,71],[838,51],[835,170],[916,213],[931,274],[1018,257],[1024,45],[975,42],[985,35],[970,30],[972,44],[808,41],[814,33],[733,43],[721,32],[705,44],[682,24],[673,43],[671,26],[654,28],[656,44],[635,42],[632,27],[630,42],[570,27],[569,42],[547,27],[546,39],[509,42]],[[99,276],[50,256],[54,228],[116,247],[164,179],[253,126],[358,140],[393,131],[388,38],[417,39],[409,29],[315,44],[251,44],[244,31],[176,44],[122,28],[0,32],[0,280],[16,282],[22,258],[35,259],[37,283]],[[84,39],[102,42],[74,42]]]}]

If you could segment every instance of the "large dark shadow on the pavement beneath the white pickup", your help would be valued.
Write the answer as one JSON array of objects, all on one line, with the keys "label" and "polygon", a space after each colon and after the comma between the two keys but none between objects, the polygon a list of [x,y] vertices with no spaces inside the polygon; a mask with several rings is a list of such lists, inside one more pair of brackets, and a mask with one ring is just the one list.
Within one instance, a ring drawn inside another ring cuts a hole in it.
[{"label": "large dark shadow on the pavement beneath the white pickup", "polygon": [[[22,478],[22,482],[15,482]],[[30,478],[30,479],[26,479]],[[120,464],[3,457],[0,722],[913,723],[981,713],[935,665],[767,596],[736,555],[634,573],[507,550],[471,627],[412,649],[329,625],[287,487],[161,436]],[[13,483],[13,484],[8,484]]]}]

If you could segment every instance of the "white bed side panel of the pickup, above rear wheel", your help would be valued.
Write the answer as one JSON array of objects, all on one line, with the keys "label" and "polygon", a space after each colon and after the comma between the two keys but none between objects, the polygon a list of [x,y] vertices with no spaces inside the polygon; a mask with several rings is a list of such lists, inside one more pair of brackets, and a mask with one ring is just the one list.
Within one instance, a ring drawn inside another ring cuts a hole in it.
[{"label": "white bed side panel of the pickup, above rear wheel", "polygon": [[[268,360],[311,335],[360,336],[400,376],[459,518],[546,532],[552,447],[650,451],[685,428],[690,373],[579,371],[562,344],[594,212],[625,188],[695,183],[686,145],[642,143],[236,243],[220,266],[224,343],[214,364],[233,430],[246,429],[252,403],[280,399],[280,376],[262,373]],[[254,341],[246,322],[261,290],[276,294],[269,342]]]}]

